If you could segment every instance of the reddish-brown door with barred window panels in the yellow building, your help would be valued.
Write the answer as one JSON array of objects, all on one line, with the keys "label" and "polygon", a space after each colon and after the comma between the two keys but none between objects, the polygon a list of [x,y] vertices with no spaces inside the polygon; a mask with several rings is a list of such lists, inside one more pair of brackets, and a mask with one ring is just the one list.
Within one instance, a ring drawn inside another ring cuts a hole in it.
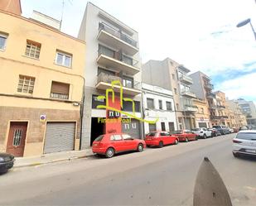
[{"label": "reddish-brown door with barred window panels in the yellow building", "polygon": [[7,141],[7,153],[23,156],[27,137],[27,122],[11,122]]}]

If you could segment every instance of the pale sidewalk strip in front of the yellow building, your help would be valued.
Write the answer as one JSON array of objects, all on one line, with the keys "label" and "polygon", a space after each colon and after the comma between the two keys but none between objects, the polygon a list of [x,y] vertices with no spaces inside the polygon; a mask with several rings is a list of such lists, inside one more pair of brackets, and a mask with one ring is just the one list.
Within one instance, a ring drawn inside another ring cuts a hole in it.
[{"label": "pale sidewalk strip in front of the yellow building", "polygon": [[44,165],[57,161],[85,158],[93,155],[94,153],[91,151],[91,148],[88,148],[83,151],[60,151],[42,156],[16,157],[13,167],[17,168],[33,165]]}]

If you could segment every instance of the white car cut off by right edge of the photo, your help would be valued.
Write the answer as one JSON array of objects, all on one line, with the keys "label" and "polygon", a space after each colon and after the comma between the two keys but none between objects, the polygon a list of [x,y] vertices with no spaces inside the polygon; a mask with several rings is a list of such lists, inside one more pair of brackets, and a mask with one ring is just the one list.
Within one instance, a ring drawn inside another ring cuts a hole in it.
[{"label": "white car cut off by right edge of the photo", "polygon": [[233,139],[233,155],[256,156],[256,130],[243,130]]}]

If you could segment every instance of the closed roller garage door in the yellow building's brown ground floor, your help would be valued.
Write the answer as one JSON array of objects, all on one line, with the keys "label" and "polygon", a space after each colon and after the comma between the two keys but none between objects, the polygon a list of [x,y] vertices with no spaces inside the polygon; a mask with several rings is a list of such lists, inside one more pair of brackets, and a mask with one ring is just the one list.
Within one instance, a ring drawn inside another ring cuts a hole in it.
[{"label": "closed roller garage door in the yellow building's brown ground floor", "polygon": [[75,122],[47,122],[44,153],[74,150]]}]

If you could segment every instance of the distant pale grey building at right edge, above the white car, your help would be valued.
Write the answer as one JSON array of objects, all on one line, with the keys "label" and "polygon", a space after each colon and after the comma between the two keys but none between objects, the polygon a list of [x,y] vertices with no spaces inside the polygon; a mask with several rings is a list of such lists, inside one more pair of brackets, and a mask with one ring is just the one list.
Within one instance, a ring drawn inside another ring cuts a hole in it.
[{"label": "distant pale grey building at right edge, above the white car", "polygon": [[239,104],[241,112],[246,117],[246,122],[249,127],[256,127],[256,108],[253,101],[246,101],[244,98],[234,100]]}]

